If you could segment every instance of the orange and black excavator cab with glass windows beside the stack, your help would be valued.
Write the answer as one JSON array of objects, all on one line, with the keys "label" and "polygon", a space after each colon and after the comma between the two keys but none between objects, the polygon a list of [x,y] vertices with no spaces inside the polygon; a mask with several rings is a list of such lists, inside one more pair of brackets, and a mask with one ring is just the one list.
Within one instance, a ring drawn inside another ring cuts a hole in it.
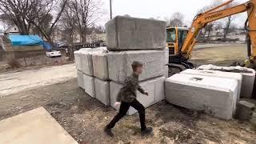
[{"label": "orange and black excavator cab with glass windows beside the stack", "polygon": [[179,54],[182,45],[188,34],[187,27],[167,27],[166,28],[166,46],[169,48],[169,54]]}]

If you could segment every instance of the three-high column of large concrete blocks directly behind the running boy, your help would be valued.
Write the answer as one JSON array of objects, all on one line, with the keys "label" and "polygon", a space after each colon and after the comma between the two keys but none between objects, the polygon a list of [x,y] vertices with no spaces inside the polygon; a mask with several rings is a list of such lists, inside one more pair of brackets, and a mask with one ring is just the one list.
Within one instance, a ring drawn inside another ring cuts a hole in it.
[{"label": "three-high column of large concrete blocks directly behind the running boy", "polygon": [[[137,92],[138,101],[148,107],[165,98],[169,50],[166,49],[166,22],[118,16],[106,23],[106,54],[110,79],[110,103],[116,102],[124,79],[132,74],[131,63],[143,63],[140,85],[149,96]],[[127,114],[136,110],[130,107]]]}]

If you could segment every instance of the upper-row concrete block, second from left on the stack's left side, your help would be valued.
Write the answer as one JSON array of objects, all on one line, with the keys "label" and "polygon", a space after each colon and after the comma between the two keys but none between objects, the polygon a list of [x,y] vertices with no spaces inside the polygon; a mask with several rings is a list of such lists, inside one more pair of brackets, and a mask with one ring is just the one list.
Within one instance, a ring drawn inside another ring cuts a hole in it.
[{"label": "upper-row concrete block, second from left on the stack's left side", "polygon": [[93,66],[93,59],[92,54],[102,53],[103,50],[106,50],[106,47],[99,47],[99,48],[89,48],[80,50],[80,59],[81,59],[81,66],[82,72],[84,74],[93,76],[94,75],[94,66]]}]

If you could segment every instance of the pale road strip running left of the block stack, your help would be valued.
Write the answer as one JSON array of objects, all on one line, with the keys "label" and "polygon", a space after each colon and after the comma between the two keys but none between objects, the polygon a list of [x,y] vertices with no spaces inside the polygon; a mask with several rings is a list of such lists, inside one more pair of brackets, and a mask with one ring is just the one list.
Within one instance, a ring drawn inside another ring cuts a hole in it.
[{"label": "pale road strip running left of the block stack", "polygon": [[76,78],[74,64],[0,74],[0,97]]}]

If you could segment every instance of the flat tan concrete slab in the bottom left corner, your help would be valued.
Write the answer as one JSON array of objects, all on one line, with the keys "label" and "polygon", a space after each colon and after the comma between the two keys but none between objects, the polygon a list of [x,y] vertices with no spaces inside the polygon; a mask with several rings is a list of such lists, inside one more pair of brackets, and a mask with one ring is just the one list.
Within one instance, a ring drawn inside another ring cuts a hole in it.
[{"label": "flat tan concrete slab in the bottom left corner", "polygon": [[2,144],[78,144],[43,108],[0,121]]}]

